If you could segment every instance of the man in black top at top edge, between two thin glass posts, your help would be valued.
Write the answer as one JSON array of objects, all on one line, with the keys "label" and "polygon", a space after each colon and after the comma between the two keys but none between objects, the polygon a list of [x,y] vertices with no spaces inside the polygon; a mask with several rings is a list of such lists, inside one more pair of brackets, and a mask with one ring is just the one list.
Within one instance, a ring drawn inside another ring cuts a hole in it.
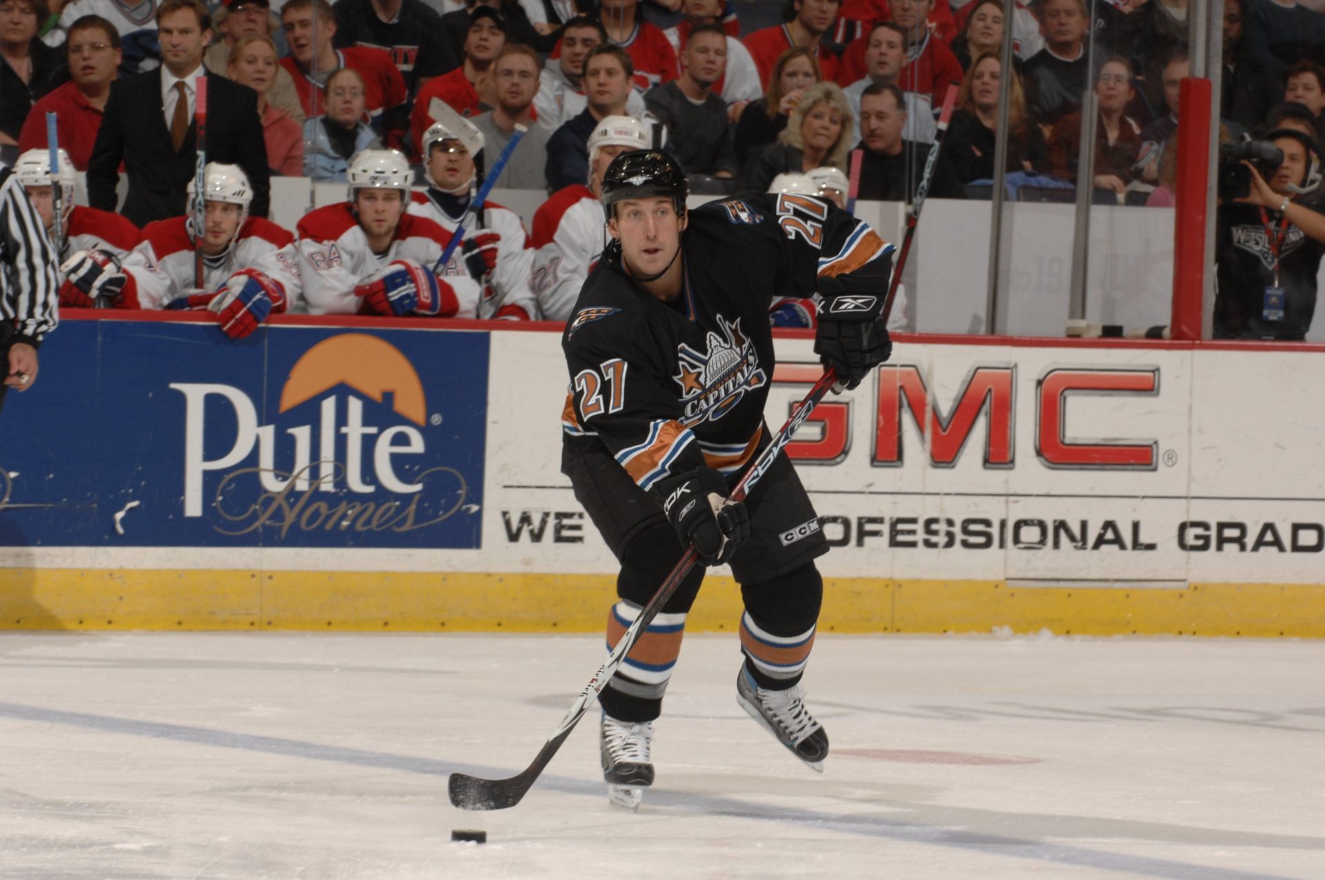
[{"label": "man in black top at top edge, between two thin glass posts", "polygon": [[[1043,0],[1039,16],[1044,49],[1026,62],[1026,99],[1035,121],[1052,126],[1081,106],[1081,94],[1096,73],[1086,70],[1085,0]],[[1096,72],[1101,57],[1102,53],[1096,56]]]}]

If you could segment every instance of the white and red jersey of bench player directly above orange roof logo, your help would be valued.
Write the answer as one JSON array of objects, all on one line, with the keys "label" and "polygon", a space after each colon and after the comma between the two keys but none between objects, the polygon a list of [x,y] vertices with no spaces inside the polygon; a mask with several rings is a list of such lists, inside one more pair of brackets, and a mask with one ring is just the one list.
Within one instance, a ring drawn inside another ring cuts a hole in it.
[{"label": "white and red jersey of bench player directly above orange roof logo", "polygon": [[[368,247],[358,217],[348,201],[318,208],[299,220],[295,249],[299,256],[299,276],[303,280],[303,300],[313,314],[352,314],[359,310],[359,297],[354,289],[378,269],[395,260],[413,260],[425,269],[433,269],[441,260],[450,235],[428,217],[405,213],[396,227],[391,247],[380,257]],[[478,285],[464,273],[440,276],[450,285],[456,302],[447,306],[439,318],[477,317]]]}]

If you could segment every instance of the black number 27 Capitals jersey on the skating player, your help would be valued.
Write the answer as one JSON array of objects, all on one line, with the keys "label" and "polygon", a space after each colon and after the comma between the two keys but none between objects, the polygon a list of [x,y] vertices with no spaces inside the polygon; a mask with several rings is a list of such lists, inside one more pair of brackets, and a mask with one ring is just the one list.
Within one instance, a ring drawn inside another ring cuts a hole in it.
[{"label": "black number 27 Capitals jersey on the skating player", "polygon": [[882,297],[893,254],[845,211],[791,193],[696,208],[681,247],[676,301],[640,288],[610,249],[562,334],[566,452],[606,447],[643,489],[705,464],[731,474],[749,463],[765,445],[770,301],[810,297],[825,276]]}]

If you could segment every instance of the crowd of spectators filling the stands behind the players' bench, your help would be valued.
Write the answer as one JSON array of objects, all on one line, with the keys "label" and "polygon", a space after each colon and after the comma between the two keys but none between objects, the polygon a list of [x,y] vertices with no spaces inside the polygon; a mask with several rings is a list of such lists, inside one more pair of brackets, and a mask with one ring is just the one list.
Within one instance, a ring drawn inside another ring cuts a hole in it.
[{"label": "crowd of spectators filling the stands behind the players' bench", "polygon": [[[121,213],[139,227],[178,216],[205,77],[208,158],[242,171],[257,217],[272,175],[344,182],[366,150],[398,151],[427,176],[425,135],[441,123],[449,137],[432,147],[464,140],[457,114],[477,133],[473,180],[523,131],[498,180],[507,188],[578,187],[579,199],[595,133],[631,119],[700,191],[845,172],[860,151],[859,196],[905,200],[938,150],[930,195],[967,197],[994,178],[1007,78],[1011,186],[1171,204],[1195,3],[786,0],[780,24],[751,28],[731,0],[0,0],[0,156],[44,147],[54,113],[94,208],[114,211],[127,175]],[[1224,8],[1228,135],[1296,125],[1320,139],[1325,4]],[[1092,87],[1094,166],[1081,168]]]}]

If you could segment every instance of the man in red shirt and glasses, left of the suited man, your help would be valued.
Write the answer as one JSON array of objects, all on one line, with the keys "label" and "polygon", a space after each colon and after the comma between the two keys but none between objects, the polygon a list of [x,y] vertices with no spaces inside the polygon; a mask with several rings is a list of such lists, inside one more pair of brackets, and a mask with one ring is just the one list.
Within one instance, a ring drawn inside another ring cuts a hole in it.
[{"label": "man in red shirt and glasses, left of the suited man", "polygon": [[70,27],[65,52],[72,80],[32,105],[19,134],[19,150],[46,146],[46,114],[54,113],[60,146],[69,150],[74,168],[86,171],[110,83],[119,69],[119,33],[101,16],[83,16]]}]

